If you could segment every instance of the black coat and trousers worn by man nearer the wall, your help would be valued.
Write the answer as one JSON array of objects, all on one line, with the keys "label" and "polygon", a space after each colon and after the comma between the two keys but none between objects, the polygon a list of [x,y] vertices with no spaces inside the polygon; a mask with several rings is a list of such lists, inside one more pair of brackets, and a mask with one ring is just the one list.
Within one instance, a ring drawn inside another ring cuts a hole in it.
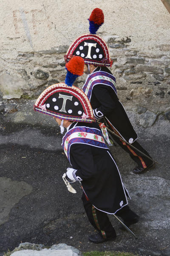
[{"label": "black coat and trousers worn by man nearer the wall", "polygon": [[[95,77],[99,77],[101,74],[108,76],[111,74],[111,71],[107,67],[97,67],[94,72],[88,77],[83,86],[83,91],[85,92],[85,88],[87,88],[87,83],[94,79]],[[116,79],[113,77],[114,81]],[[125,109],[122,103],[119,101],[117,97],[116,90],[113,89],[110,85],[99,83],[100,80],[92,82],[91,88],[86,92],[91,106],[94,109],[94,116],[97,119],[101,119],[105,117],[105,121],[108,124],[108,127],[116,132],[117,135],[124,138],[130,144],[133,143],[133,146],[137,149],[141,150],[147,156],[150,156],[146,150],[142,148],[142,146],[136,141],[137,134],[133,129],[129,118],[125,112]],[[101,81],[105,81],[101,79]],[[114,85],[113,85],[114,86]],[[143,156],[139,151],[132,149],[129,145],[127,145],[124,141],[113,136],[113,139],[127,152],[130,154],[130,157],[137,162],[139,167],[147,168],[148,166],[153,164],[153,161]]]}]

